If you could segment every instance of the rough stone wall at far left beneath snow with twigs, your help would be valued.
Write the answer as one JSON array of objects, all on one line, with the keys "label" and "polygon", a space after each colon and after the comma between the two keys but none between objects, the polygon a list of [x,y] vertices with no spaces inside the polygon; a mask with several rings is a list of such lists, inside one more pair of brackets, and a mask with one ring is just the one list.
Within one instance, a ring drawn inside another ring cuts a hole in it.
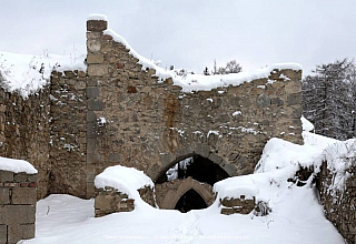
[{"label": "rough stone wall at far left beneath snow with twigs", "polygon": [[23,99],[0,88],[0,156],[20,159],[38,169],[38,199],[49,189],[49,88]]}]

